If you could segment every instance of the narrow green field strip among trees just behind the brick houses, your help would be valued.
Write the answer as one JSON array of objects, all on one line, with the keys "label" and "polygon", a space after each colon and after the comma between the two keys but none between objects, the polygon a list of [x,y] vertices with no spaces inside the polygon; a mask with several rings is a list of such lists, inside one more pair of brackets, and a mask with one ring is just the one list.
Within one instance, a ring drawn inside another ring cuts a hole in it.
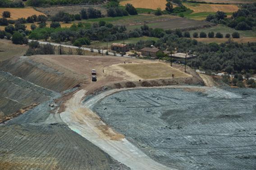
[{"label": "narrow green field strip among trees just behind the brick houses", "polygon": [[[142,37],[137,37],[137,38],[128,38],[127,40],[124,40],[124,43],[125,44],[130,44],[130,43],[135,44],[139,40],[155,40],[155,41],[157,41],[158,38],[149,37],[149,36],[142,36]],[[109,41],[108,42],[108,48],[110,48],[112,43],[121,43],[121,44],[123,44],[123,40]],[[107,47],[107,43],[106,42],[95,41],[95,42],[91,42],[91,46],[96,47],[96,48],[99,48],[99,47],[105,47],[106,48]]]}]

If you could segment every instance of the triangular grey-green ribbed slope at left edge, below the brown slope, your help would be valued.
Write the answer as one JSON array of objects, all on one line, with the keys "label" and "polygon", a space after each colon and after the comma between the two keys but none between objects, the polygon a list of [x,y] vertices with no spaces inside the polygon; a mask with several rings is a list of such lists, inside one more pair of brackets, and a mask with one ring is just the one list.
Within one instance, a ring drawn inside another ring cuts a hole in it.
[{"label": "triangular grey-green ribbed slope at left edge, below the brown slope", "polygon": [[0,72],[0,92],[0,120],[23,107],[41,103],[58,94],[8,72]]}]

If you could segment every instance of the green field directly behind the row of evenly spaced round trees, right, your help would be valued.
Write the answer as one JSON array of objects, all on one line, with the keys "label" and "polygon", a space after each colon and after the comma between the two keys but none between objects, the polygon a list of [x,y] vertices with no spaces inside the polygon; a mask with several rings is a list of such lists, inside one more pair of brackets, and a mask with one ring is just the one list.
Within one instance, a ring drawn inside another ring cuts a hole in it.
[{"label": "green field directly behind the row of evenly spaced round trees, right", "polygon": [[192,30],[192,31],[190,31],[190,36],[192,36],[192,34],[194,32],[200,33],[201,31],[206,32],[206,34],[208,34],[208,32],[210,32],[210,31],[214,31],[215,33],[220,32],[224,36],[227,33],[229,33],[231,35],[233,32],[237,31],[237,32],[239,32],[241,37],[256,37],[256,31],[255,30],[238,31],[238,30],[235,30],[233,28],[230,28],[230,27],[227,27],[227,26],[221,25],[221,24],[219,24],[215,27],[208,27],[208,28],[204,28],[204,29]]}]

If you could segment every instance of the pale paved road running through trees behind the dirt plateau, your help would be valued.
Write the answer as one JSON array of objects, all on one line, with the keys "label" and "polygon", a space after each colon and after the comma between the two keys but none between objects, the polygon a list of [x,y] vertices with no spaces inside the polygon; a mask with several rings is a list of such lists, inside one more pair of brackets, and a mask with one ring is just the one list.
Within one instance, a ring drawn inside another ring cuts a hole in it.
[{"label": "pale paved road running through trees behind the dirt plateau", "polygon": [[[33,40],[28,40],[28,42],[31,42],[31,41],[33,41]],[[50,44],[50,45],[54,45],[54,46],[59,46],[59,45],[61,45],[62,47],[67,47],[67,48],[72,48],[72,49],[78,49],[78,48],[79,48],[79,47],[73,46],[73,45],[63,45],[63,44],[52,43],[52,42],[47,42],[47,41],[38,41],[38,40],[37,40],[37,42],[39,42],[39,44]],[[81,49],[86,50],[86,51],[91,51],[90,48],[86,48],[86,47],[81,47]],[[98,53],[99,50],[98,50],[98,49],[93,49],[93,52]],[[102,53],[102,49],[100,50],[100,52]],[[107,52],[107,50],[103,50],[103,54],[105,54],[106,52]],[[112,53],[112,52],[109,52],[109,55],[113,55],[113,56],[117,56],[117,57],[134,58],[134,57],[130,57],[130,56],[128,56],[128,55],[123,55],[123,56],[122,56],[121,54],[114,54],[114,53]]]}]

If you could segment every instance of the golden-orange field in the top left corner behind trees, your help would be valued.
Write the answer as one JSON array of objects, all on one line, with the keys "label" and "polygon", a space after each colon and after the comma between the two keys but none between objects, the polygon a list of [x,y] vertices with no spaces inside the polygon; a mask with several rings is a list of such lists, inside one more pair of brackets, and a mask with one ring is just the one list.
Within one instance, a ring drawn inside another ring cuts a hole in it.
[{"label": "golden-orange field in the top left corner behind trees", "polygon": [[[44,15],[44,13],[41,13],[31,7],[27,8],[0,8],[0,13],[2,14],[4,11],[9,11],[11,13],[11,18],[8,19],[13,19],[16,20],[18,18],[27,18],[31,15]],[[0,15],[2,18],[2,15]]]}]

